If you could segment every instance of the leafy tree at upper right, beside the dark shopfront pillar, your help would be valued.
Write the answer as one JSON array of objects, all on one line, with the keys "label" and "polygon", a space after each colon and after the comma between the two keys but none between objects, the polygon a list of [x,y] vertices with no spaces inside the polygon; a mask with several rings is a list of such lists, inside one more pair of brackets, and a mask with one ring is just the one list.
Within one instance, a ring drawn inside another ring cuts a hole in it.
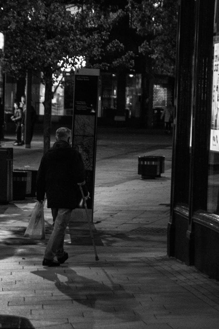
[{"label": "leafy tree at upper right, beside the dark shopfront pillar", "polygon": [[[152,126],[150,80],[155,73],[173,76],[175,73],[177,1],[130,0],[127,6],[131,27],[142,38],[139,61],[142,66],[142,117]],[[151,104],[151,107],[150,107]]]}]

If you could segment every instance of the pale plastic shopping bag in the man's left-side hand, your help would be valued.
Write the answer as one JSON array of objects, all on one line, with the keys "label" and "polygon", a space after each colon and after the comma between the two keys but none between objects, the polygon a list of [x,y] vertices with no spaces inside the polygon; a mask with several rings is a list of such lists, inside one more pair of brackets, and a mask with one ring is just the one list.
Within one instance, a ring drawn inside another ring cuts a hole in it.
[{"label": "pale plastic shopping bag in the man's left-side hand", "polygon": [[43,202],[36,203],[24,236],[32,239],[45,239]]}]

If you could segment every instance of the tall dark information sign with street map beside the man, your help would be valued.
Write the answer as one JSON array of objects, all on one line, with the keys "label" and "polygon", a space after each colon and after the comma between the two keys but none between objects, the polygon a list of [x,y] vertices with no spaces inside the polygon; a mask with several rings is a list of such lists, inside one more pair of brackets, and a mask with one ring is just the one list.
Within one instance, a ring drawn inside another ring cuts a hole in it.
[{"label": "tall dark information sign with street map beside the man", "polygon": [[[81,68],[75,71],[72,146],[82,155],[86,184],[90,193],[87,207],[93,221],[94,181],[96,163],[99,69]],[[81,203],[79,202],[79,205]],[[84,209],[77,207],[77,217],[86,220]]]}]

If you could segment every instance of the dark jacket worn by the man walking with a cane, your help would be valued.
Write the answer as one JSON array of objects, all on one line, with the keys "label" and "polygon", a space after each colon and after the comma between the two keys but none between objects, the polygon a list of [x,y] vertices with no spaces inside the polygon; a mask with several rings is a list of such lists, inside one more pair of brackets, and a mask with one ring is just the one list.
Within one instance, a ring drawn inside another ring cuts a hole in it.
[{"label": "dark jacket worn by the man walking with a cane", "polygon": [[[36,198],[44,200],[46,192],[48,208],[75,209],[77,183],[82,182],[85,183],[85,170],[81,154],[68,142],[56,141],[42,157],[36,178]],[[86,185],[82,188],[87,196]]]}]

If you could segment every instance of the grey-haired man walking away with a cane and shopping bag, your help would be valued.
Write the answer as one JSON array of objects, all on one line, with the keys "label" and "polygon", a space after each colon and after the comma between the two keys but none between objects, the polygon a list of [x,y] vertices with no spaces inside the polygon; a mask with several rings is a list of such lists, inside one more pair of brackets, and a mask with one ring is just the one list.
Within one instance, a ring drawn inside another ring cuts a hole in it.
[{"label": "grey-haired man walking away with a cane and shopping bag", "polygon": [[71,130],[61,127],[56,130],[53,147],[42,157],[36,178],[36,198],[42,201],[46,193],[47,207],[51,208],[54,221],[43,266],[59,266],[68,259],[68,253],[64,251],[64,237],[71,212],[76,208],[77,184],[81,184],[88,199],[82,156],[71,147]]}]

